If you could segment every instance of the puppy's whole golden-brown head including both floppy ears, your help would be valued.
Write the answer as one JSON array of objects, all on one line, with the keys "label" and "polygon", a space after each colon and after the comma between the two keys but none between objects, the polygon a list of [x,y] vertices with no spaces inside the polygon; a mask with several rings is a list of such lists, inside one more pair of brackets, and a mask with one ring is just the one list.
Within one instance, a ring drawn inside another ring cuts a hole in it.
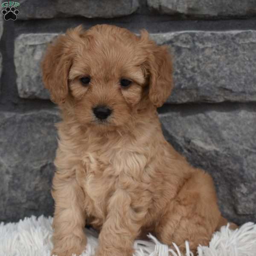
[{"label": "puppy's whole golden-brown head including both floppy ears", "polygon": [[122,126],[143,105],[163,105],[172,90],[168,50],[146,31],[78,26],[48,47],[42,68],[52,101],[87,125]]}]

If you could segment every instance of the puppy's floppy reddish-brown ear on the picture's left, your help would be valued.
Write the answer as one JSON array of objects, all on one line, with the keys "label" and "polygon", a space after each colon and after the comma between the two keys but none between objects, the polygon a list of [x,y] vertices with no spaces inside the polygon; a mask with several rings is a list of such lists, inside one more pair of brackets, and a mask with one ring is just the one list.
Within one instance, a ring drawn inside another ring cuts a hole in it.
[{"label": "puppy's floppy reddish-brown ear on the picture's left", "polygon": [[68,73],[72,65],[73,46],[82,27],[67,31],[49,45],[42,61],[44,86],[49,90],[53,102],[64,103],[68,95]]}]

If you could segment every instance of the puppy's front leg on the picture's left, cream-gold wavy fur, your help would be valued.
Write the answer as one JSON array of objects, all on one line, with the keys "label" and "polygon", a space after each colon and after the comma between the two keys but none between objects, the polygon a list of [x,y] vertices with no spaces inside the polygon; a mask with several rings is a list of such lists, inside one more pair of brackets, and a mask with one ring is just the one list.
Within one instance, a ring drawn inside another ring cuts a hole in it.
[{"label": "puppy's front leg on the picture's left, cream-gold wavy fur", "polygon": [[84,192],[75,177],[55,173],[53,178],[52,197],[55,201],[53,218],[52,255],[80,255],[86,245],[84,234],[85,213],[82,208]]}]

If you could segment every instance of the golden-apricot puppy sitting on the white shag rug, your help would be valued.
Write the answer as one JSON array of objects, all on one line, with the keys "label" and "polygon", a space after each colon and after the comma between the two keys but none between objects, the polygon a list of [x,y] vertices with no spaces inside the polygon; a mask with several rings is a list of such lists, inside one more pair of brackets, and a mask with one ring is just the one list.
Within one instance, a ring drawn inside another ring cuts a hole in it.
[{"label": "golden-apricot puppy sitting on the white shag rug", "polygon": [[131,256],[148,232],[181,249],[207,245],[227,221],[212,178],[163,137],[156,109],[173,87],[167,47],[145,30],[78,26],[49,46],[42,69],[62,114],[52,254],[79,255],[85,224],[100,230],[97,256]]}]

